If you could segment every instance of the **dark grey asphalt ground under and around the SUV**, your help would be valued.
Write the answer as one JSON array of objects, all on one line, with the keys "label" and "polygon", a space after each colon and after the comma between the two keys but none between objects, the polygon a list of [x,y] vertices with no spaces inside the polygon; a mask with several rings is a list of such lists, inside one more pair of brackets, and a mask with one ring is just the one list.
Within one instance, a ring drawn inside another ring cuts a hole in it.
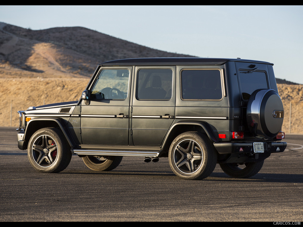
[{"label": "dark grey asphalt ground under and around the SUV", "polygon": [[168,159],[124,157],[112,171],[88,169],[73,155],[61,173],[40,173],[17,147],[15,128],[0,127],[0,221],[303,221],[303,135],[286,135],[248,179],[216,166],[184,180]]}]

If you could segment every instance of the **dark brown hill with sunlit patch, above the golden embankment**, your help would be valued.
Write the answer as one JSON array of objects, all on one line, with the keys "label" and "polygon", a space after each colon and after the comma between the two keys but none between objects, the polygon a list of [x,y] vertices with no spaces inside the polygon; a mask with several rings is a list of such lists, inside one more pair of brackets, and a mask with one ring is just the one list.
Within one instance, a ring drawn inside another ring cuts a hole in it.
[{"label": "dark brown hill with sunlit patch, above the golden embankment", "polygon": [[[0,23],[0,77],[91,77],[122,58],[194,57],[169,53],[82,27],[30,30]],[[6,68],[9,68],[9,73]],[[4,69],[3,69],[4,68]],[[18,69],[22,71],[18,71]],[[14,71],[12,73],[12,71]]]}]

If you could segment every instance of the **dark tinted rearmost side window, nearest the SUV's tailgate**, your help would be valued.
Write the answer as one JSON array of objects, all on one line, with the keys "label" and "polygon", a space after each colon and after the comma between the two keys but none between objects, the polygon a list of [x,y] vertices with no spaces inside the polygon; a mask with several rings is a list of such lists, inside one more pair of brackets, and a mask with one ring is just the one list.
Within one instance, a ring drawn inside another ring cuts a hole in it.
[{"label": "dark tinted rearmost side window, nearest the SUV's tailgate", "polygon": [[181,72],[183,100],[221,100],[220,70],[183,70]]}]

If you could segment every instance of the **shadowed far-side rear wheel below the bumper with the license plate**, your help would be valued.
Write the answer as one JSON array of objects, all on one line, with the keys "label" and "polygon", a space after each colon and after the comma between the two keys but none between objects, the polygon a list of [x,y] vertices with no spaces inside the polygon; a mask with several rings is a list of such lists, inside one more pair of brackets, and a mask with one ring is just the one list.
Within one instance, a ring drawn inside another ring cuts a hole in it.
[{"label": "shadowed far-side rear wheel below the bumper with the license plate", "polygon": [[[221,169],[228,176],[234,178],[247,178],[256,175],[262,168],[264,160],[248,163],[223,163]],[[241,168],[242,167],[242,168]]]}]

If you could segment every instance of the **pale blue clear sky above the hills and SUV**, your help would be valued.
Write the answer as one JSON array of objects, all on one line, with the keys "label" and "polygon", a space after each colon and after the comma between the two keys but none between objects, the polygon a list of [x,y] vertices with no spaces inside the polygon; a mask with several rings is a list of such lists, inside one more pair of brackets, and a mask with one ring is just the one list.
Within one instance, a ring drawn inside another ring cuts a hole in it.
[{"label": "pale blue clear sky above the hills and SUV", "polygon": [[303,84],[301,5],[0,5],[0,22],[81,26],[178,54],[268,61],[277,78]]}]

